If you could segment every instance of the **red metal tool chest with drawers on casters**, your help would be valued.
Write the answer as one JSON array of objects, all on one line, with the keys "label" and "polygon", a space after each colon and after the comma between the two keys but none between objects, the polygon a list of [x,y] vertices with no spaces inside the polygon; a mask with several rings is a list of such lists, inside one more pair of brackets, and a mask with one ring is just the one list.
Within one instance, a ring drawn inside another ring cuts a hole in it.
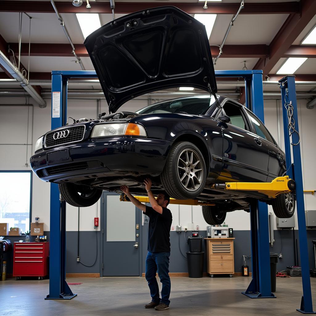
[{"label": "red metal tool chest with drawers on casters", "polygon": [[42,280],[48,275],[49,242],[15,242],[13,276],[38,276]]}]

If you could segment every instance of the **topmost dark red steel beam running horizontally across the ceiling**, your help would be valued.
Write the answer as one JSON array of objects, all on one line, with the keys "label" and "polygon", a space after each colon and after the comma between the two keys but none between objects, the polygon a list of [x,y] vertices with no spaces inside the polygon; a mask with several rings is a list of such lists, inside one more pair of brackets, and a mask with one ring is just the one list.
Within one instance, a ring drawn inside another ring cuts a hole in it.
[{"label": "topmost dark red steel beam running horizontally across the ceiling", "polygon": [[[92,2],[91,8],[85,5],[75,7],[71,1],[55,2],[59,13],[109,13],[112,14],[109,2]],[[116,2],[115,13],[132,13],[144,9],[172,5],[187,13],[216,13],[216,14],[236,14],[240,3],[208,3],[207,9],[203,9],[204,3],[179,3],[179,2]],[[2,12],[36,12],[53,13],[54,10],[49,1],[1,1],[0,11]],[[240,14],[292,14],[299,13],[300,5],[298,2],[280,3],[245,3],[245,8]]]}]

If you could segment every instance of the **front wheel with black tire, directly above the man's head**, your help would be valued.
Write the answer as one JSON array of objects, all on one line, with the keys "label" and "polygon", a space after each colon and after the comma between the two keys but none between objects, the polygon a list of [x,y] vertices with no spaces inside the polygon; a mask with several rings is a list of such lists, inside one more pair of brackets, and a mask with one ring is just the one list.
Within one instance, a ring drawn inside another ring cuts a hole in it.
[{"label": "front wheel with black tire, directly above the man's head", "polygon": [[[181,157],[187,158],[184,161]],[[160,179],[166,192],[173,198],[184,200],[198,197],[206,181],[206,165],[201,151],[190,142],[175,143]]]}]

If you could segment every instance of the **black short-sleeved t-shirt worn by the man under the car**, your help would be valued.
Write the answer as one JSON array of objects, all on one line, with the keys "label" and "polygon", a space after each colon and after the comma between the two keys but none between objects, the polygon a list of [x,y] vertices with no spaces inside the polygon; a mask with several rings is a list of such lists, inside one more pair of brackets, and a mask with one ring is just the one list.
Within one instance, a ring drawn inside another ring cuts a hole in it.
[{"label": "black short-sleeved t-shirt worn by the man under the car", "polygon": [[171,211],[163,207],[162,214],[160,214],[146,205],[144,214],[149,217],[147,250],[150,252],[170,252]]}]

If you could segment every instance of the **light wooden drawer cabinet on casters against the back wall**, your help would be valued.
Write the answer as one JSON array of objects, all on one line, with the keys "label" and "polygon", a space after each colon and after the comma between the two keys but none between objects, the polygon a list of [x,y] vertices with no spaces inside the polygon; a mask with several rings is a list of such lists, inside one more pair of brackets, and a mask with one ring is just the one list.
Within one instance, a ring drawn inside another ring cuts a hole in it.
[{"label": "light wooden drawer cabinet on casters against the back wall", "polygon": [[207,273],[234,274],[234,239],[235,238],[204,238],[206,240]]}]

